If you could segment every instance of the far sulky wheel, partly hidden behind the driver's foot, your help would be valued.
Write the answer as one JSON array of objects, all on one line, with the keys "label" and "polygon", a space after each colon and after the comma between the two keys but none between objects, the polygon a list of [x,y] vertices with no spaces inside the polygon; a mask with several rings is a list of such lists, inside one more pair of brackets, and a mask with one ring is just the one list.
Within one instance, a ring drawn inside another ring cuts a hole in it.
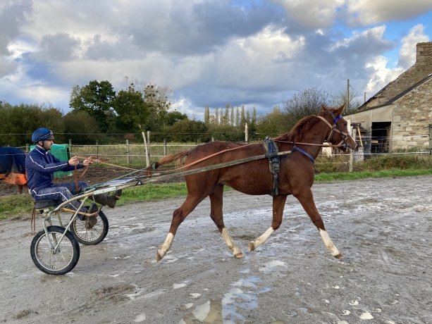
[{"label": "far sulky wheel, partly hidden behind the driver's foot", "polygon": [[77,218],[70,225],[70,232],[81,244],[96,245],[104,240],[109,228],[108,218],[103,211],[99,211],[96,221],[93,224],[91,220],[86,222]]}]

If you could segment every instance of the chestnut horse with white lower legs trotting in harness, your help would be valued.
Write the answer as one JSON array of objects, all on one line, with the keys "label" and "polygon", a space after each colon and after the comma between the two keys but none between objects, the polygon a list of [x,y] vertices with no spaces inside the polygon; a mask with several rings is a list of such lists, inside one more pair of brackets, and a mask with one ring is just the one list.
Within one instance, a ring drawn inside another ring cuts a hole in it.
[{"label": "chestnut horse with white lower legs trotting in harness", "polygon": [[[274,139],[279,151],[292,150],[292,152],[280,159],[278,195],[273,197],[273,221],[271,227],[255,241],[249,243],[249,252],[254,251],[259,245],[266,242],[271,233],[279,228],[282,223],[285,201],[288,195],[292,194],[300,201],[304,211],[318,228],[328,251],[335,258],[344,258],[328,236],[321,215],[316,210],[311,192],[314,183],[314,159],[318,156],[323,142],[330,142],[338,145],[339,148],[341,148],[340,144],[343,142],[346,151],[350,151],[348,147],[350,149],[356,147],[354,139],[347,132],[347,123],[340,115],[342,109],[343,106],[339,108],[326,108],[323,106],[323,110],[317,116],[303,118],[292,128],[291,132]],[[265,154],[262,144],[209,142],[188,151],[165,156],[161,158],[159,163],[155,163],[154,167],[157,168],[175,161],[183,161],[183,158],[187,156],[184,168],[190,170],[262,154]],[[187,168],[188,164],[198,160],[202,161],[195,163],[192,168]],[[174,211],[171,228],[165,242],[156,253],[156,260],[159,261],[165,256],[168,249],[171,248],[178,226],[206,197],[210,197],[210,217],[219,232],[221,232],[223,239],[225,239],[228,249],[233,251],[236,258],[242,258],[242,251],[230,237],[223,223],[223,186],[227,185],[244,194],[271,194],[273,173],[269,170],[269,161],[263,158],[235,166],[187,175],[186,185],[187,198],[182,206]]]}]

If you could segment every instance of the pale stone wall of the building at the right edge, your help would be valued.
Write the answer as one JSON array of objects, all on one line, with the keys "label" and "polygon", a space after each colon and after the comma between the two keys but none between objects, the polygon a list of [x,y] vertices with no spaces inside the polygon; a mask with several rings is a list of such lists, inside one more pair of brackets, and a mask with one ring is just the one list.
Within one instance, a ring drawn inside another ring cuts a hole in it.
[{"label": "pale stone wall of the building at the right edge", "polygon": [[[431,43],[432,44],[432,43]],[[432,124],[432,79],[395,101],[393,108],[393,150],[428,147],[428,130]]]}]

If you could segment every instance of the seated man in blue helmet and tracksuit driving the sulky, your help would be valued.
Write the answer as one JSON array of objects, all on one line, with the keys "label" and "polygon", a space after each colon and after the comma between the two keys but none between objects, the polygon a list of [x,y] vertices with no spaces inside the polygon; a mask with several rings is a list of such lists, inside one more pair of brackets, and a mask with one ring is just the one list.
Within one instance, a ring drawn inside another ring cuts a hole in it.
[{"label": "seated man in blue helmet and tracksuit driving the sulky", "polygon": [[[83,190],[89,185],[87,182],[78,182],[78,192],[76,189],[75,182],[61,183],[58,185],[53,184],[54,172],[56,171],[71,171],[77,168],[84,168],[90,165],[92,162],[84,160],[82,164],[79,164],[78,158],[74,156],[69,161],[60,161],[54,155],[49,153],[49,150],[54,144],[54,134],[47,128],[39,128],[35,130],[32,135],[32,142],[36,144],[33,149],[25,158],[25,169],[27,171],[27,185],[30,189],[30,194],[35,200],[42,199],[61,199],[61,201],[67,201],[72,199],[74,194],[83,192]],[[122,191],[116,190],[116,192],[109,196],[107,194],[96,194],[91,196],[94,201],[101,204],[102,206],[108,205],[111,208],[116,206],[116,202],[120,199]],[[70,207],[78,210],[80,208],[80,201],[75,200],[70,202]],[[87,208],[81,208],[84,213],[95,213],[98,211],[97,204],[92,203],[89,210]],[[78,214],[80,220],[86,220],[86,228],[91,228],[96,223],[96,217],[92,216],[89,219],[84,218]],[[88,224],[90,223],[90,225]]]}]

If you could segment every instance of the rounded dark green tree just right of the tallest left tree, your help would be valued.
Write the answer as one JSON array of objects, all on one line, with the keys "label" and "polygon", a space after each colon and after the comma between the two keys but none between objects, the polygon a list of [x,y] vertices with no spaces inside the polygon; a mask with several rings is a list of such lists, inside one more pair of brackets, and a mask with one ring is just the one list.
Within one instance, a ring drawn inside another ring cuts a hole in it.
[{"label": "rounded dark green tree just right of the tallest left tree", "polygon": [[133,87],[118,92],[114,110],[117,113],[116,126],[125,132],[142,132],[149,123],[149,108],[140,92]]}]

